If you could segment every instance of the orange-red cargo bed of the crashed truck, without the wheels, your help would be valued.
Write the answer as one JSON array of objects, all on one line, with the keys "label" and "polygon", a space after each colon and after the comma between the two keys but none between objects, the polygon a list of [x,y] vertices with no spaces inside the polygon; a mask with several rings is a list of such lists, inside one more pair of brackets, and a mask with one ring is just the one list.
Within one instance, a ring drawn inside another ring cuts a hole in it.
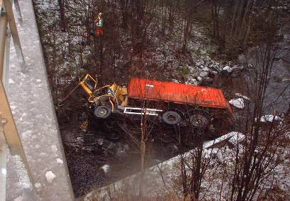
[{"label": "orange-red cargo bed of the crashed truck, without the wheels", "polygon": [[223,91],[211,87],[133,77],[128,85],[128,97],[228,109],[233,114]]}]

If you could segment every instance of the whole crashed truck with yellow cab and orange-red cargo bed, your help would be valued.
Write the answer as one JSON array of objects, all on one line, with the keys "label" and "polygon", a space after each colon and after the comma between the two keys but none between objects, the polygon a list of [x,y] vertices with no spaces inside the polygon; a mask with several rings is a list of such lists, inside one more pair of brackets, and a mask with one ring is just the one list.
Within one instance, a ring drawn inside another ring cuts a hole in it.
[{"label": "whole crashed truck with yellow cab and orange-red cargo bed", "polygon": [[[169,125],[191,124],[206,128],[213,119],[233,119],[221,89],[160,82],[133,77],[128,87],[105,85],[86,75],[81,82],[94,115],[106,119],[112,113],[159,116]],[[150,107],[148,107],[150,106]]]}]

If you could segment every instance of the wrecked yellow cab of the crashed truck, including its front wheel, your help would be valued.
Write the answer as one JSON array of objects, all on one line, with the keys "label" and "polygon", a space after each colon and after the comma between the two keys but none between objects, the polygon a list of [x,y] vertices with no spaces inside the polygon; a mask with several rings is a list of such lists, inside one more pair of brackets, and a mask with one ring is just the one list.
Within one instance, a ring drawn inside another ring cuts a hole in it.
[{"label": "wrecked yellow cab of the crashed truck, including its front wheel", "polygon": [[95,104],[94,115],[101,119],[106,119],[111,112],[118,111],[119,108],[128,104],[127,87],[105,85],[98,88],[98,80],[87,74],[80,85],[89,94],[88,102]]}]

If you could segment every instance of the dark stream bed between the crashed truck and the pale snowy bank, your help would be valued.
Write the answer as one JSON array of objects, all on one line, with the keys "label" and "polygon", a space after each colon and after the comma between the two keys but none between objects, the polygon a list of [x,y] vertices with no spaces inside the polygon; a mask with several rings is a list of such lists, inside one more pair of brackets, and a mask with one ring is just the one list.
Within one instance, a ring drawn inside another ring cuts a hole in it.
[{"label": "dark stream bed between the crashed truck and the pale snowy bank", "polygon": [[[152,131],[147,139],[147,167],[189,151],[196,138],[206,141],[217,137],[212,131],[205,131],[200,136],[189,132],[187,126],[167,126],[159,119],[148,125]],[[106,120],[96,119],[84,107],[74,111],[66,123],[61,122],[60,131],[77,197],[91,188],[108,185],[140,170],[140,119],[121,114],[113,114]],[[218,133],[220,136],[226,132]],[[107,173],[105,167],[108,167]]]}]

